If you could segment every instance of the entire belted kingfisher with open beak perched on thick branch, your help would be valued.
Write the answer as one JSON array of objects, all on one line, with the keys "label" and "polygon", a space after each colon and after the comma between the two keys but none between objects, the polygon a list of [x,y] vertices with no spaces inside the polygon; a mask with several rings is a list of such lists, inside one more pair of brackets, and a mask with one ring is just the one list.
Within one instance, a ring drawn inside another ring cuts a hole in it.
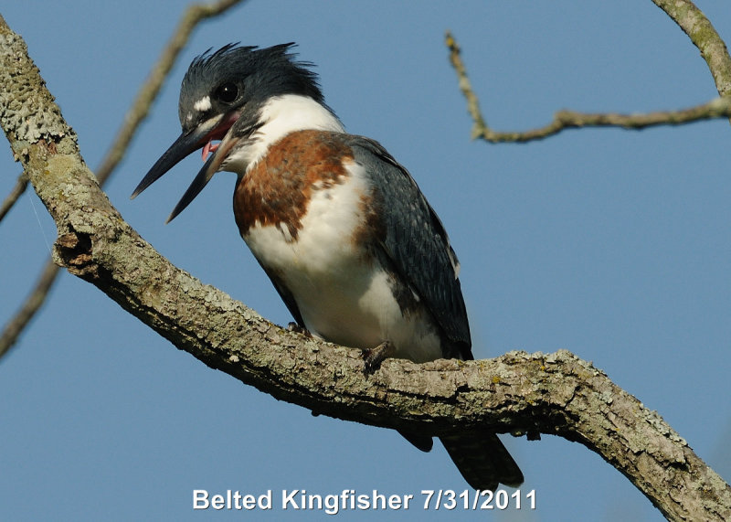
[{"label": "entire belted kingfisher with open beak perched on thick branch", "polygon": [[[194,59],[180,91],[183,133],[132,197],[203,149],[168,221],[218,171],[235,172],[238,230],[300,327],[368,354],[472,359],[460,265],[440,218],[383,146],[345,133],[293,45],[229,44]],[[429,433],[402,435],[431,449]],[[441,440],[472,487],[523,482],[493,432]]]}]

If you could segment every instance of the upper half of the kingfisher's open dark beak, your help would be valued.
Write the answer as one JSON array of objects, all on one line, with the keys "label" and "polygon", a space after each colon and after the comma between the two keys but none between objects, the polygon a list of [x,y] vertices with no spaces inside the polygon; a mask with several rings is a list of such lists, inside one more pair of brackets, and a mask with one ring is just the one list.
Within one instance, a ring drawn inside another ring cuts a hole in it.
[{"label": "upper half of the kingfisher's open dark beak", "polygon": [[238,112],[223,114],[217,118],[211,118],[207,122],[201,123],[195,129],[184,132],[178,136],[175,143],[170,145],[160,159],[158,159],[153,168],[143,177],[143,180],[132,192],[131,199],[139,196],[145,188],[151,186],[155,181],[180,163],[185,156],[202,148],[211,140],[220,140],[228,129],[231,128],[238,120]]}]

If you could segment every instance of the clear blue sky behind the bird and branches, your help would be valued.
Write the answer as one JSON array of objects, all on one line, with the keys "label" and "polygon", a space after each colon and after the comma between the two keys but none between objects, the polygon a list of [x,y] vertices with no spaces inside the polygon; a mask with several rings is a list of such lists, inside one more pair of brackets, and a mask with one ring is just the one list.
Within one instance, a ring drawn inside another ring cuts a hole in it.
[{"label": "clear blue sky behind the bird and branches", "polygon": [[[182,3],[24,2],[2,14],[98,165],[175,26]],[[697,4],[726,42],[726,0]],[[238,238],[234,176],[216,176],[170,225],[196,154],[129,195],[179,133],[188,63],[231,41],[295,41],[352,133],[384,144],[418,180],[462,263],[473,352],[568,349],[591,360],[731,479],[731,127],[584,130],[534,144],[470,141],[471,121],[443,45],[463,58],[488,122],[546,123],[562,108],[642,112],[717,95],[699,52],[646,2],[251,1],[193,37],[129,154],[111,202],[177,266],[279,324],[291,320]],[[20,167],[0,154],[0,195]],[[0,317],[35,281],[55,240],[37,197],[0,226]],[[64,274],[0,361],[0,512],[7,519],[232,519],[194,512],[192,491],[260,495],[343,489],[416,495],[466,488],[441,447],[419,453],[393,431],[314,418],[211,370],[94,287]],[[535,511],[424,512],[391,519],[659,520],[598,455],[544,436],[507,437]],[[275,509],[269,517],[320,519]],[[375,517],[343,512],[339,519]]]}]

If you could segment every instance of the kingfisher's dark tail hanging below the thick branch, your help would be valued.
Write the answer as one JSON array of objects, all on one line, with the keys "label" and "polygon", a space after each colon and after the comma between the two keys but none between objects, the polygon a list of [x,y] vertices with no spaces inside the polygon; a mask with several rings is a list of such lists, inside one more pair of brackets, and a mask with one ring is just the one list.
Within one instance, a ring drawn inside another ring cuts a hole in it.
[{"label": "kingfisher's dark tail hanging below the thick branch", "polygon": [[498,484],[517,487],[523,473],[493,432],[471,431],[440,437],[451,460],[474,489],[494,491]]}]

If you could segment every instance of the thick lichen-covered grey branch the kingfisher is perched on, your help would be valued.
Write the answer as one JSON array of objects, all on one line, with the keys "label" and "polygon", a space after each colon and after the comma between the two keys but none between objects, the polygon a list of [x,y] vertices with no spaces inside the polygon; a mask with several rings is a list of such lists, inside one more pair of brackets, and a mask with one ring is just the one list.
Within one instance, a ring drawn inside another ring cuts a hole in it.
[{"label": "thick lichen-covered grey branch the kingfisher is perched on", "polygon": [[[58,227],[55,261],[175,346],[304,408],[389,428],[540,433],[581,442],[673,520],[731,519],[731,488],[654,411],[568,352],[415,365],[272,325],[157,253],[122,219],[79,154],[26,46],[0,17],[0,124]],[[79,311],[82,313],[82,311]]]}]

